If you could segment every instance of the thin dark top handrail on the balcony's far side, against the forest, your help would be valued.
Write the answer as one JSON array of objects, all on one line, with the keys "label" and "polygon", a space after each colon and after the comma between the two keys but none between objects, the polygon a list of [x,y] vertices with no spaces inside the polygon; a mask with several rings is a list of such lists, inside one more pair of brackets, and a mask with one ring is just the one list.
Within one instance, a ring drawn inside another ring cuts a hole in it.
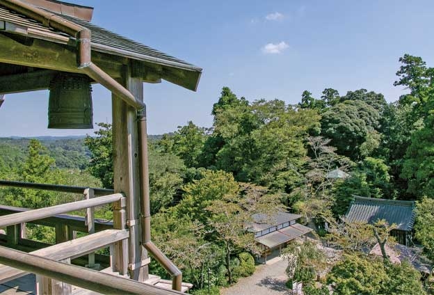
[{"label": "thin dark top handrail on the balcony's far side, against the forest", "polygon": [[37,184],[32,182],[15,182],[10,180],[0,180],[0,186],[19,187],[22,189],[40,189],[43,191],[58,191],[60,193],[83,193],[85,189],[93,189],[95,196],[106,196],[114,193],[113,189],[99,189],[88,186],[66,186],[58,184]]}]

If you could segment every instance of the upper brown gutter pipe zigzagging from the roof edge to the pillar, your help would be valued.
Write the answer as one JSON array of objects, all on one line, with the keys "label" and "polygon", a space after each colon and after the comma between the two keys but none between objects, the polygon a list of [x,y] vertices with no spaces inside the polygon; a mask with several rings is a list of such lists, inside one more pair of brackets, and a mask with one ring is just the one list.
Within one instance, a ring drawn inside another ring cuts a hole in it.
[{"label": "upper brown gutter pipe zigzagging from the roof edge to the pillar", "polygon": [[22,13],[26,17],[35,19],[38,22],[44,24],[44,26],[56,29],[68,35],[72,35],[77,40],[77,63],[79,69],[83,70],[88,76],[94,79],[97,83],[102,84],[102,86],[109,89],[116,96],[120,97],[124,102],[130,106],[134,106],[136,109],[143,109],[145,104],[136,99],[129,90],[120,85],[118,81],[113,79],[101,70],[97,65],[92,63],[90,54],[90,30],[83,26],[74,24],[73,22],[67,21],[62,17],[54,13],[50,13],[47,10],[42,10],[35,6],[31,6],[28,3],[24,3],[19,0],[0,0],[0,4],[14,10],[17,13]]}]

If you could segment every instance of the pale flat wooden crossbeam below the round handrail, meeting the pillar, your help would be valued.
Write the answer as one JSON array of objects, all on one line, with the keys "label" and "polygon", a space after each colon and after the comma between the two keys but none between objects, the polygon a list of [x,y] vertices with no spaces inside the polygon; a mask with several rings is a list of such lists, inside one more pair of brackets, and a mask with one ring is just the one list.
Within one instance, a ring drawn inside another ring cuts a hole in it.
[{"label": "pale flat wooden crossbeam below the round handrail, meeting the pillar", "polygon": [[[90,234],[86,237],[35,250],[31,252],[31,254],[58,261],[74,259],[88,253],[93,253],[95,250],[104,248],[115,242],[128,239],[128,237],[129,232],[127,230],[104,230],[102,232],[97,232],[96,234]],[[15,278],[20,278],[26,274],[26,271],[1,265],[0,284],[8,282],[9,280],[14,280]]]}]

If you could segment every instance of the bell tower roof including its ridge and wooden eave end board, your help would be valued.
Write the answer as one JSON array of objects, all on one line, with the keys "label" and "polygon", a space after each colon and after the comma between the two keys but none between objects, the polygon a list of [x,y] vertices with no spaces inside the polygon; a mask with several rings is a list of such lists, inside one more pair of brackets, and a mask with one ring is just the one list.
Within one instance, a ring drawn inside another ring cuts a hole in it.
[{"label": "bell tower roof including its ridge and wooden eave end board", "polygon": [[[49,1],[63,3],[54,0]],[[33,0],[29,2],[32,2],[31,4],[35,5],[35,3],[38,3],[39,1]],[[41,6],[39,7],[59,15],[67,21],[89,29],[91,32],[91,47],[93,51],[111,54],[113,56],[131,58],[132,60],[142,61],[152,65],[161,65],[162,68],[160,71],[162,73],[162,79],[167,78],[167,81],[177,83],[178,85],[190,90],[196,90],[202,72],[200,67],[192,65],[191,63],[187,63],[186,61],[182,61],[181,59],[175,58],[174,56],[170,56],[169,54],[165,54],[159,50],[153,49],[152,47],[148,47],[147,45],[143,45],[139,42],[123,37],[122,35],[113,33],[100,26],[97,26],[96,24],[93,24],[92,22],[89,22],[86,19],[74,17],[64,13],[60,14],[58,11],[48,10],[47,8],[43,8]],[[40,38],[43,40],[47,40],[48,38],[51,42],[65,45],[71,45],[71,40],[74,40],[74,36],[47,28],[47,26],[44,26],[40,22],[36,22],[29,17],[15,13],[14,11],[0,5],[0,23],[1,21],[7,22],[9,24],[9,28],[6,28],[6,30],[3,29],[3,31],[10,31],[12,33],[26,35],[31,38]],[[47,37],[47,33],[49,33],[49,37]],[[182,72],[184,81],[179,83],[179,79],[164,77],[165,67],[175,68]]]}]

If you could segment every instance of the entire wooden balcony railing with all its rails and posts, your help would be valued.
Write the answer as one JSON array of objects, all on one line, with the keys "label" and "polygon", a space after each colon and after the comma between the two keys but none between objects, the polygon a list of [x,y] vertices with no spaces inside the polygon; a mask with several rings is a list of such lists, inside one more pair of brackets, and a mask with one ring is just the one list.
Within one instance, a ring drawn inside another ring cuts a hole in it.
[{"label": "entire wooden balcony railing with all its rails and posts", "polygon": [[[181,294],[173,290],[161,289],[159,287],[129,280],[122,276],[113,276],[109,273],[102,273],[84,268],[77,269],[79,266],[70,264],[72,258],[88,254],[88,264],[92,266],[95,264],[95,254],[93,251],[97,250],[97,248],[110,246],[112,253],[115,248],[113,244],[124,243],[124,241],[126,241],[128,235],[124,236],[122,234],[126,230],[124,227],[110,232],[108,228],[113,228],[113,223],[104,223],[95,220],[93,214],[94,207],[110,203],[114,204],[113,207],[115,208],[115,211],[118,210],[124,212],[125,198],[121,193],[113,193],[112,190],[89,189],[77,186],[56,186],[51,184],[29,184],[24,182],[7,181],[0,181],[0,186],[83,193],[85,198],[85,200],[79,200],[77,202],[33,210],[0,206],[0,228],[6,227],[7,229],[6,235],[0,234],[0,243],[1,239],[6,238],[6,244],[9,247],[6,248],[0,246],[0,262],[22,270],[14,272],[10,270],[10,267],[8,269],[8,266],[6,266],[6,273],[15,273],[15,276],[21,276],[25,271],[29,271],[38,273],[39,276],[52,278],[54,279],[53,282],[56,282],[55,280],[61,280],[67,284],[76,285],[95,292],[109,292],[116,294]],[[104,195],[106,193],[111,194]],[[94,198],[95,196],[99,197]],[[85,218],[60,215],[81,209],[86,209]],[[116,212],[114,212],[113,215],[114,218],[117,218],[116,216],[122,214],[116,214]],[[56,228],[56,243],[60,242],[60,244],[32,251],[31,247],[42,248],[43,246],[47,246],[47,244],[26,239],[24,233],[26,223],[46,225]],[[68,241],[73,239],[74,232],[77,231],[88,232],[89,235],[74,241]],[[95,234],[95,232],[99,233]],[[99,235],[103,235],[105,239],[101,240]],[[104,241],[104,243],[102,243],[102,241]],[[85,247],[83,245],[87,246]],[[27,252],[31,253],[24,253],[11,248],[27,248],[25,250],[28,250]],[[60,256],[54,255],[54,252],[60,253]],[[61,260],[61,262],[56,260]],[[66,262],[66,264],[64,262]],[[113,262],[113,258],[110,262],[114,272],[115,262]],[[149,264],[149,259],[146,263]],[[64,292],[65,287],[61,287],[61,293],[59,294],[65,294]],[[48,293],[54,294],[54,289],[49,289]]]}]

